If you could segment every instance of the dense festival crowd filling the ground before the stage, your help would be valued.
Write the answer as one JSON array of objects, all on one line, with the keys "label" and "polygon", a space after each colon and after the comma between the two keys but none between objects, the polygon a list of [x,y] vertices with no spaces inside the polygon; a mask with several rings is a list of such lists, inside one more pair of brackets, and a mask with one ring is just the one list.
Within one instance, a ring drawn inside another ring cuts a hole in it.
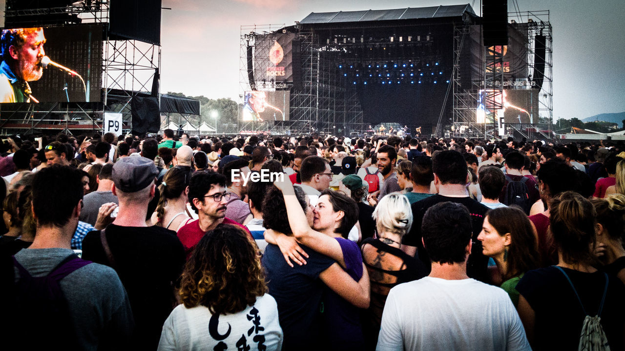
[{"label": "dense festival crowd filling the ground before the stage", "polygon": [[625,348],[622,142],[11,136],[0,175],[8,349]]}]

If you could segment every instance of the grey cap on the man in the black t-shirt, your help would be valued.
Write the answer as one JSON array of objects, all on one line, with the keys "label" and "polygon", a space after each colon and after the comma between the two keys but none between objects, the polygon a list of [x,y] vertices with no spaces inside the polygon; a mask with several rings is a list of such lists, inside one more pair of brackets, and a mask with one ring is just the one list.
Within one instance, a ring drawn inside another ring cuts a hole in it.
[{"label": "grey cap on the man in the black t-shirt", "polygon": [[154,183],[158,169],[146,157],[124,157],[113,164],[113,182],[123,192],[138,192]]}]

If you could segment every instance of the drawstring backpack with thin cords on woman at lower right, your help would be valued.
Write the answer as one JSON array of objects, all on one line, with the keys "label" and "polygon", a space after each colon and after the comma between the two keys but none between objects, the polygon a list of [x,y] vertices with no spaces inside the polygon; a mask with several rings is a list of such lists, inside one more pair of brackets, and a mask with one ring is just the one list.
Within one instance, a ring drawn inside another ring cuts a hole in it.
[{"label": "drawstring backpack with thin cords on woman at lower right", "polygon": [[603,331],[603,327],[601,327],[601,318],[599,317],[601,316],[603,303],[606,301],[607,282],[608,282],[607,274],[604,273],[604,275],[606,276],[606,287],[603,290],[603,297],[601,297],[601,304],[599,304],[599,312],[597,312],[596,316],[591,317],[590,315],[586,313],[586,309],[584,309],[584,305],[582,305],[582,300],[579,298],[579,295],[577,294],[577,290],[575,290],[575,287],[573,283],[571,282],[571,279],[569,278],[569,276],[566,274],[566,272],[564,272],[563,269],[561,269],[557,265],[555,267],[558,270],[560,270],[562,274],[564,274],[564,277],[566,277],[566,280],[568,280],[569,284],[571,284],[571,288],[573,289],[573,292],[575,293],[575,296],[577,297],[577,300],[579,301],[579,304],[582,307],[582,312],[584,312],[584,315],[586,315],[586,318],[584,318],[584,324],[582,324],[582,332],[579,335],[579,346],[577,347],[577,350],[578,351],[585,351],[585,350],[609,351],[610,346],[607,343],[606,333]]}]

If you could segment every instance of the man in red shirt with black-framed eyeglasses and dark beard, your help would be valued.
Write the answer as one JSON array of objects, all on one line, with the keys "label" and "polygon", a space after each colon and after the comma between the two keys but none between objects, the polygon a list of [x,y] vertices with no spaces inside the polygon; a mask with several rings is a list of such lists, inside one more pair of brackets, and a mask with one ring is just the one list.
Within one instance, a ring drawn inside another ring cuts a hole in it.
[{"label": "man in red shirt with black-framed eyeglasses and dark beard", "polygon": [[198,219],[178,230],[178,239],[183,243],[187,260],[204,234],[219,224],[238,225],[252,238],[246,227],[226,217],[230,196],[231,193],[226,191],[226,177],[223,174],[211,171],[193,174],[189,182],[189,203]]}]

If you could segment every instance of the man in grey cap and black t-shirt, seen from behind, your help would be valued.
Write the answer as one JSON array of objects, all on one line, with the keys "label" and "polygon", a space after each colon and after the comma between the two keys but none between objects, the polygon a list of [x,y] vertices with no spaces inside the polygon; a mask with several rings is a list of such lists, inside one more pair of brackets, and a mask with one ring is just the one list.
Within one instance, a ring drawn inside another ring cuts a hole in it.
[{"label": "man in grey cap and black t-shirt, seen from behind", "polygon": [[[117,217],[83,240],[84,259],[113,267],[126,287],[136,322],[132,349],[156,349],[175,301],[173,285],[184,264],[176,232],[146,226],[157,174],[154,162],[145,157],[116,162],[112,178],[119,201]],[[110,213],[115,207],[104,205],[101,211]]]}]

